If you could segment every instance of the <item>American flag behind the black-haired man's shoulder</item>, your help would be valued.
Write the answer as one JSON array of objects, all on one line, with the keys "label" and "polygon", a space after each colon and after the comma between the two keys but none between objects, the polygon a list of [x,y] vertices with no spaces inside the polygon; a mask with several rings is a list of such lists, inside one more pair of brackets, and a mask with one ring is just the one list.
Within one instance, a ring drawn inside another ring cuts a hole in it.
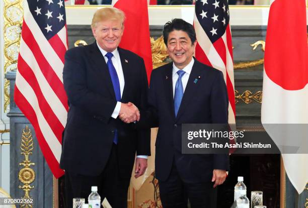
[{"label": "American flag behind the black-haired man's shoulder", "polygon": [[196,58],[223,73],[229,98],[229,124],[235,124],[235,93],[232,37],[227,0],[198,0],[194,27],[197,36]]}]

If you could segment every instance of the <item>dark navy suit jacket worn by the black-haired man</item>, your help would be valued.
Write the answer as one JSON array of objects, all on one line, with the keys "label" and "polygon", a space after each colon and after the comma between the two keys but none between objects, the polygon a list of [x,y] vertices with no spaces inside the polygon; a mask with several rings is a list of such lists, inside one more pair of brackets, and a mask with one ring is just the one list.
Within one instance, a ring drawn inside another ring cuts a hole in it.
[{"label": "dark navy suit jacket worn by the black-haired man", "polygon": [[[152,71],[150,79],[150,111],[146,119],[151,126],[159,127],[156,139],[156,177],[166,180],[175,161],[179,174],[186,182],[210,181],[213,169],[228,170],[228,154],[182,154],[181,125],[227,124],[228,98],[223,75],[219,70],[195,59],[175,117],[172,68],[173,63],[161,66]],[[196,78],[198,81],[194,83]]]}]

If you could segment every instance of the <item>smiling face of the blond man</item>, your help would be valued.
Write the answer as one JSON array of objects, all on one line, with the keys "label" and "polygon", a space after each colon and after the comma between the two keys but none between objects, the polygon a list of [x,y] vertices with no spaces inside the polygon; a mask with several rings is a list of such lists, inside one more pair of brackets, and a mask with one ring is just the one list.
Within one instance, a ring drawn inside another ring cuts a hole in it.
[{"label": "smiling face of the blond man", "polygon": [[114,51],[120,44],[124,26],[120,20],[106,20],[92,27],[99,46],[107,52]]}]

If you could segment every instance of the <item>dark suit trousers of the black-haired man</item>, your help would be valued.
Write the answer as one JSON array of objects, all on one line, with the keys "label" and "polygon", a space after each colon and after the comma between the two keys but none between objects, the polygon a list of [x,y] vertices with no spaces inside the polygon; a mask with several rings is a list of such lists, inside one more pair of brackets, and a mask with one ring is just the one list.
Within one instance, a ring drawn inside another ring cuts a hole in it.
[{"label": "dark suit trousers of the black-haired man", "polygon": [[164,208],[186,208],[189,199],[191,208],[216,207],[217,188],[212,182],[184,182],[175,161],[166,181],[159,180],[160,196]]}]

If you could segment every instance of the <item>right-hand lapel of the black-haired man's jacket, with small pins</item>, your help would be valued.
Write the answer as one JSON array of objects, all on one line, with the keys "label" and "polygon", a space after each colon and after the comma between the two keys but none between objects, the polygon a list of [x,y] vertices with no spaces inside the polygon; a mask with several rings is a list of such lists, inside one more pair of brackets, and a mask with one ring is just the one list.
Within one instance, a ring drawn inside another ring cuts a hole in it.
[{"label": "right-hand lapel of the black-haired man's jacket, with small pins", "polygon": [[202,71],[197,66],[197,64],[198,63],[195,60],[194,65],[191,69],[189,78],[188,78],[188,82],[187,82],[183,97],[182,97],[182,101],[181,101],[181,105],[180,105],[180,109],[179,109],[176,121],[178,121],[181,115],[184,113],[189,101],[192,100],[191,98],[193,95],[196,95],[197,89],[200,85],[198,80],[201,78]]}]

